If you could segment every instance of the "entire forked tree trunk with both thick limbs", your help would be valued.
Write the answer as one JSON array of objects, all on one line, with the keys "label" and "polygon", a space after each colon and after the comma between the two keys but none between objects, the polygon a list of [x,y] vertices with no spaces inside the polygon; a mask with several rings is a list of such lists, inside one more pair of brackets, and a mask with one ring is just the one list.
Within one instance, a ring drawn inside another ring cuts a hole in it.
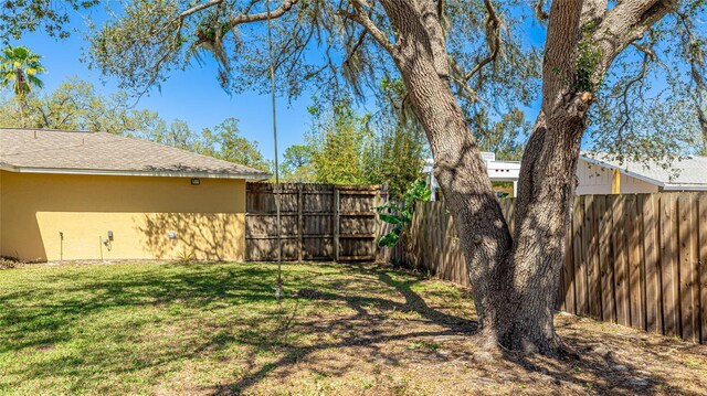
[{"label": "entire forked tree trunk with both thick limbs", "polygon": [[[370,31],[387,44],[428,135],[435,176],[465,254],[481,336],[486,345],[556,354],[561,343],[552,322],[555,299],[591,90],[616,54],[659,20],[669,2],[620,2],[610,11],[605,0],[551,3],[542,105],[523,156],[513,237],[450,87],[435,2],[381,3],[399,40],[392,45],[382,32]],[[593,31],[585,29],[588,22]],[[606,40],[616,36],[622,39]],[[582,51],[593,52],[580,53],[582,42]],[[595,65],[582,57],[592,54],[600,55]]]}]

